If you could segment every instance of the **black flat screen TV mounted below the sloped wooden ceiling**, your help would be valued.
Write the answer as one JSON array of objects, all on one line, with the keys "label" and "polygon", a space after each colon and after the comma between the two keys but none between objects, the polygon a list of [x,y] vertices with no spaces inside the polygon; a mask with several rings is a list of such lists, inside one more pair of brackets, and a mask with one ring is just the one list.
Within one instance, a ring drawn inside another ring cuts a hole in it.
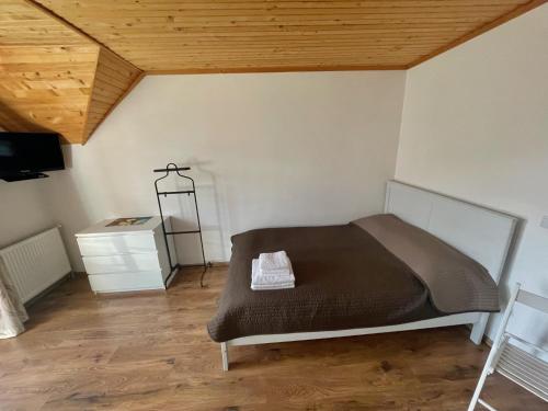
[{"label": "black flat screen TV mounted below the sloped wooden ceiling", "polygon": [[0,133],[0,179],[18,181],[47,176],[62,170],[59,135],[53,133]]}]

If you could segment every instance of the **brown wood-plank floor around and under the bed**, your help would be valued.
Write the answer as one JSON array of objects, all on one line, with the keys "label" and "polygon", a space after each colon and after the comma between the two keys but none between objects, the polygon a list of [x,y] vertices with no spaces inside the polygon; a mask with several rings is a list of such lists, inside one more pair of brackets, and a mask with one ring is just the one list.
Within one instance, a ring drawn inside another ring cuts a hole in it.
[{"label": "brown wood-plank floor around and under the bed", "polygon": [[[167,294],[61,285],[25,333],[0,340],[0,410],[466,410],[488,347],[464,327],[231,347],[222,373],[205,324],[226,269],[204,289],[198,275]],[[501,410],[546,410],[503,378],[493,396]]]}]

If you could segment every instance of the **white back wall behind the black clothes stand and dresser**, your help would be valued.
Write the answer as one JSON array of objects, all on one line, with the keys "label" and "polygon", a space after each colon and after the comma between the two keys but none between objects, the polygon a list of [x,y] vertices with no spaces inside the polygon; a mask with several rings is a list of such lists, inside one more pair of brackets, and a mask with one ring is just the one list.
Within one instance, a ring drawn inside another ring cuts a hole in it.
[{"label": "white back wall behind the black clothes stand and dresser", "polygon": [[[157,214],[152,169],[190,164],[213,261],[229,259],[239,231],[380,212],[403,89],[402,71],[147,77],[85,146],[66,148],[72,167],[50,179],[52,208],[68,237]],[[192,204],[167,205],[191,227]],[[196,242],[179,246],[181,262],[198,261]]]}]

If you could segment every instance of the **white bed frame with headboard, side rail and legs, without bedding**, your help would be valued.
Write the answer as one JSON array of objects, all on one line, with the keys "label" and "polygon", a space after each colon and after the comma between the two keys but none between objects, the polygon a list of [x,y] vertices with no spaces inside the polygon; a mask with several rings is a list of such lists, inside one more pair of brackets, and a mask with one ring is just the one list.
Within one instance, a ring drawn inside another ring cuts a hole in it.
[{"label": "white bed frame with headboard, side rail and legs, without bedding", "polygon": [[[385,213],[397,215],[475,259],[489,271],[496,284],[518,221],[507,214],[397,181],[387,183]],[[489,312],[466,312],[387,327],[243,336],[220,343],[222,369],[228,370],[228,347],[232,345],[333,339],[458,324],[471,324],[470,340],[479,344],[488,320]]]}]

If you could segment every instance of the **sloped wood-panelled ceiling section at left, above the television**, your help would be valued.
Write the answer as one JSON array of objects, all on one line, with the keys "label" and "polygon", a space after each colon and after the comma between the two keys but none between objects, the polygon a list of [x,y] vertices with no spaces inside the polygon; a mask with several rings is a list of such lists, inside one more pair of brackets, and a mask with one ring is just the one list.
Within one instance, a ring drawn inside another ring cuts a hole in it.
[{"label": "sloped wood-panelled ceiling section at left, above the television", "polygon": [[33,4],[0,1],[0,127],[83,144],[139,72]]}]

